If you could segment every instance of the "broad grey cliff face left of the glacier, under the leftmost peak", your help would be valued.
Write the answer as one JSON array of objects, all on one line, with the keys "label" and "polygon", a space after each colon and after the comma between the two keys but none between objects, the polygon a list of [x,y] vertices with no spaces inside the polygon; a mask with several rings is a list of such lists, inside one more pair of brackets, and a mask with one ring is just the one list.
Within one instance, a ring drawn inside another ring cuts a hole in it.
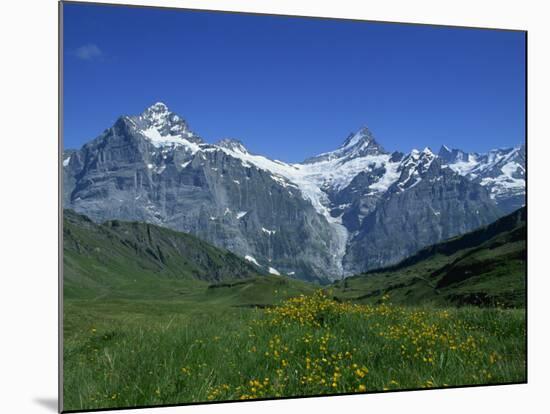
[{"label": "broad grey cliff face left of the glacier, under the leftmost peak", "polygon": [[[311,280],[341,273],[334,232],[295,186],[224,151],[246,151],[242,144],[205,144],[156,106],[120,118],[71,155],[66,207],[97,222],[136,220],[190,232],[272,272]],[[160,123],[157,134],[150,130],[157,119],[175,123]]]}]

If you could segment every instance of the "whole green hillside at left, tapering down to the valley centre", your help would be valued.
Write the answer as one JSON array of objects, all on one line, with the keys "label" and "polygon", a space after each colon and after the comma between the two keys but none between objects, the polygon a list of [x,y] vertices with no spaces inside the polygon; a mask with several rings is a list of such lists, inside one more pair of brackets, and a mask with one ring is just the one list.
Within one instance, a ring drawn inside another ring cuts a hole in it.
[{"label": "whole green hillside at left, tapering down to the valley centre", "polygon": [[190,234],[138,222],[96,224],[64,211],[65,299],[185,299],[273,303],[312,287],[266,275]]}]

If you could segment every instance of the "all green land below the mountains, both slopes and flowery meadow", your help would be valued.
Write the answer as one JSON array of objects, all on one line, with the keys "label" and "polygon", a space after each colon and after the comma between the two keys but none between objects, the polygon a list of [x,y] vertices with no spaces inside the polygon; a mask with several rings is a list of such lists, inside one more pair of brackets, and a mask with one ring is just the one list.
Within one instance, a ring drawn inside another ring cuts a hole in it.
[{"label": "all green land below the mountains, both slopes and flowery meadow", "polygon": [[514,232],[321,287],[150,225],[64,230],[64,411],[526,381]]}]

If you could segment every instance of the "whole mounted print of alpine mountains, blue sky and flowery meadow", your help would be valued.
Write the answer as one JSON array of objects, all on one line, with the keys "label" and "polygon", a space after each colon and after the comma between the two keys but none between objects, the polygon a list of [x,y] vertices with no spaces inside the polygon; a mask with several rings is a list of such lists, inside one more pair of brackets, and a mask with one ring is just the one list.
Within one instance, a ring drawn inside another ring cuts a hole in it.
[{"label": "whole mounted print of alpine mountains, blue sky and flowery meadow", "polygon": [[526,376],[526,32],[60,3],[62,410]]}]

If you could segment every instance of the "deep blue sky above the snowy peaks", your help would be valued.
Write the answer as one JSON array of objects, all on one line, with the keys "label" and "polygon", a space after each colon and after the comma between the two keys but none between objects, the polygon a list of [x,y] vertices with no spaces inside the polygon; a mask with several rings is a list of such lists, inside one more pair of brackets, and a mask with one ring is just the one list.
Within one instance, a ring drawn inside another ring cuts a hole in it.
[{"label": "deep blue sky above the snowy peaks", "polygon": [[524,142],[521,32],[64,6],[64,144],[165,102],[207,142],[297,162],[368,126],[390,151]]}]

